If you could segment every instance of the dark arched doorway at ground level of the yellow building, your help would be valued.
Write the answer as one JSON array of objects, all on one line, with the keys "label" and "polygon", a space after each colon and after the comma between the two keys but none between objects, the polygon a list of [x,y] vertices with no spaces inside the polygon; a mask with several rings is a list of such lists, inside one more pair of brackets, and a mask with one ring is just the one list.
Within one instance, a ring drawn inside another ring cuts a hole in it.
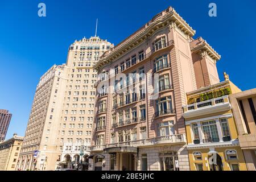
[{"label": "dark arched doorway at ground level of the yellow building", "polygon": [[216,151],[210,151],[208,155],[210,171],[223,171],[221,156]]}]

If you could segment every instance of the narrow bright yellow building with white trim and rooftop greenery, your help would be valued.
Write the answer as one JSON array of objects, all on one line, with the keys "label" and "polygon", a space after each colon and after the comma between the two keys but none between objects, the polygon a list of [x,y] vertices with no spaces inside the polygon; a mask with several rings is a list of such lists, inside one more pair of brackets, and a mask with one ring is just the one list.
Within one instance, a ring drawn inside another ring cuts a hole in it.
[{"label": "narrow bright yellow building with white trim and rooftop greenery", "polygon": [[247,170],[229,99],[241,90],[224,76],[223,82],[187,93],[183,117],[192,171]]}]

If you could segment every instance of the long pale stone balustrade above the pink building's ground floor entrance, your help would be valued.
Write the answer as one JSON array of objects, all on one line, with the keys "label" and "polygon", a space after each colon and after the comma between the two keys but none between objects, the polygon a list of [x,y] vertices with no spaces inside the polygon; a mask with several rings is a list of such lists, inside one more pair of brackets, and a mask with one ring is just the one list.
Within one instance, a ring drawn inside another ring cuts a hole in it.
[{"label": "long pale stone balustrade above the pink building's ground floor entrance", "polygon": [[96,145],[90,148],[92,151],[100,151],[100,150],[104,150],[104,148],[110,148],[110,147],[140,147],[140,146],[152,146],[160,143],[161,144],[162,143],[168,143],[168,144],[185,143],[185,141],[186,141],[186,138],[184,134],[177,134],[177,135],[166,135],[166,136],[140,139],[140,140],[131,140],[127,142]]}]

